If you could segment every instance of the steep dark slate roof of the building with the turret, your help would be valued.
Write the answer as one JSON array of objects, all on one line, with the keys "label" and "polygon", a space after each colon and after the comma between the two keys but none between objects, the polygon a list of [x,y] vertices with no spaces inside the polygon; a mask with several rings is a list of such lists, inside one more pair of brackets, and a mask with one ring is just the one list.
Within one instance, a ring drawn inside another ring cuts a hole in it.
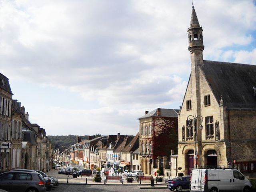
[{"label": "steep dark slate roof of the building with the turret", "polygon": [[204,60],[205,78],[218,103],[227,108],[256,109],[256,65]]}]

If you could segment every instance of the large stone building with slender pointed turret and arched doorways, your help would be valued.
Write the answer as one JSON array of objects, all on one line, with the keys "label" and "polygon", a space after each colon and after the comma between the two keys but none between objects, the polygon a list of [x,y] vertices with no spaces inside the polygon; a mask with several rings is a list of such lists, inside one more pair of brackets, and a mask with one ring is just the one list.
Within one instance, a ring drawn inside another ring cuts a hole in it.
[{"label": "large stone building with slender pointed turret and arched doorways", "polygon": [[[191,74],[178,115],[178,167],[231,166],[256,173],[256,66],[203,60],[194,6],[188,28]],[[197,154],[197,156],[196,156]]]}]

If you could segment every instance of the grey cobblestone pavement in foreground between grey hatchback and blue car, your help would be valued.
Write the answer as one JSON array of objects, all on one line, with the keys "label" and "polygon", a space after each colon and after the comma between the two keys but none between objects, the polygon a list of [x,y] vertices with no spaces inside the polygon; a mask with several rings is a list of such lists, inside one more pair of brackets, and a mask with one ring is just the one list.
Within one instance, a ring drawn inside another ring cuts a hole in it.
[{"label": "grey cobblestone pavement in foreground between grey hatchback and blue car", "polygon": [[168,188],[140,189],[142,186],[127,185],[77,185],[77,184],[60,184],[50,192],[168,192]]}]

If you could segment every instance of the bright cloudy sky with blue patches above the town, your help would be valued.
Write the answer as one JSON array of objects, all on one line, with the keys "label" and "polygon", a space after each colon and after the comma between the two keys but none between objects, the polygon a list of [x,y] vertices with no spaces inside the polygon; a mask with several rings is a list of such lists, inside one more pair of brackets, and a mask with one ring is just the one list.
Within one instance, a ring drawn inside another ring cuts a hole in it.
[{"label": "bright cloudy sky with blue patches above the town", "polygon": [[[204,60],[256,65],[256,0],[193,0]],[[46,135],[136,135],[179,109],[192,0],[0,0],[0,73]]]}]

